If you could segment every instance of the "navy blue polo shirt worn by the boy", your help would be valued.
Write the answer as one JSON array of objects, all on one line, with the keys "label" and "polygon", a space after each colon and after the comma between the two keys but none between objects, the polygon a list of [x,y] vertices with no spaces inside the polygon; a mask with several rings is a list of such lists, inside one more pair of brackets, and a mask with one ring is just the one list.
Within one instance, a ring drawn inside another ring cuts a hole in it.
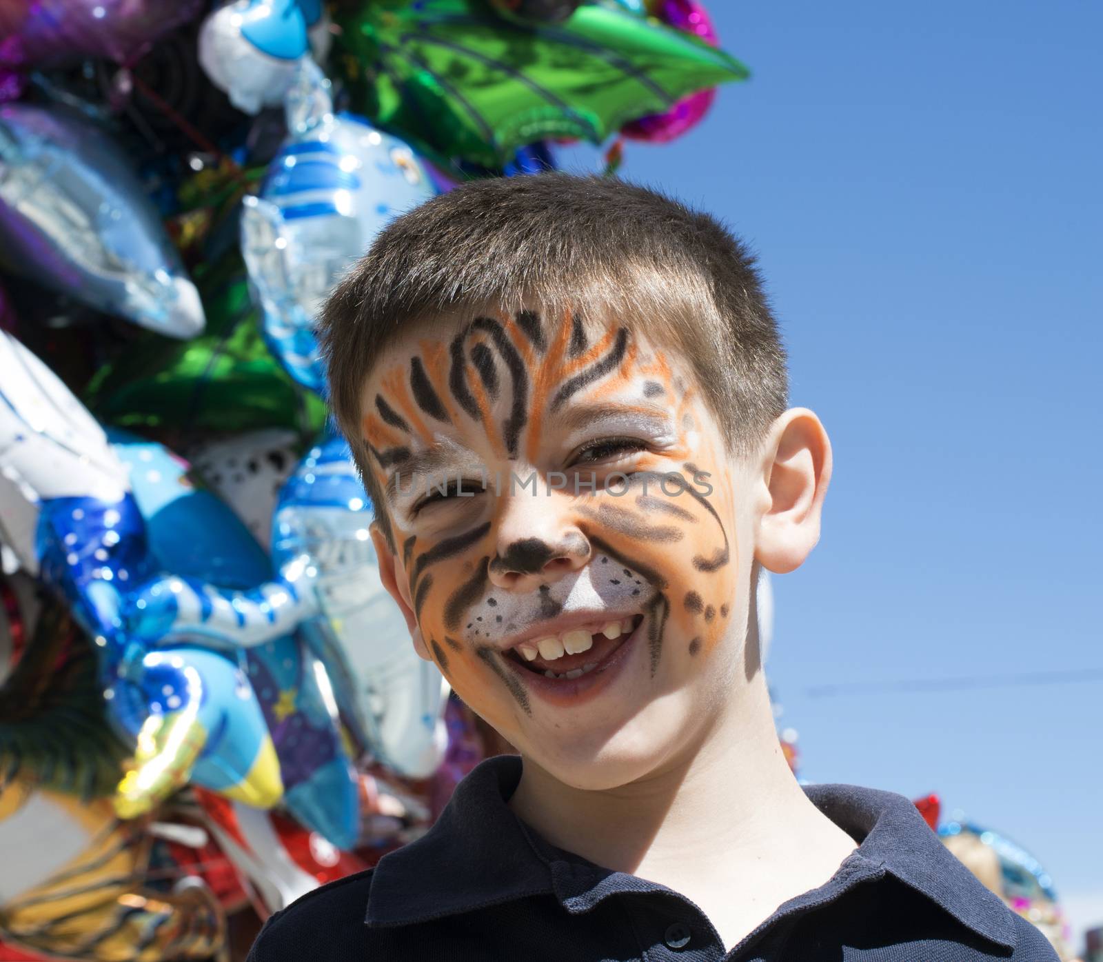
[{"label": "navy blue polo shirt worn by the boy", "polygon": [[248,962],[1056,962],[901,795],[811,785],[858,848],[725,953],[666,886],[556,848],[506,802],[522,760],[480,762],[416,842],[274,915]]}]

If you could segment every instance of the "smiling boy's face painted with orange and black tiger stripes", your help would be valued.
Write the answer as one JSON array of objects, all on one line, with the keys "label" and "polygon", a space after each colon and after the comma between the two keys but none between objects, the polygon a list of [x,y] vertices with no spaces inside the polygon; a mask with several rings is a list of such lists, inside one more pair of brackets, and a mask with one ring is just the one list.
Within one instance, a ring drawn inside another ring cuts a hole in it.
[{"label": "smiling boy's face painted with orange and black tiger stripes", "polygon": [[731,697],[747,485],[670,349],[536,312],[425,324],[386,351],[361,413],[394,533],[392,551],[373,531],[384,582],[523,755],[620,784]]}]

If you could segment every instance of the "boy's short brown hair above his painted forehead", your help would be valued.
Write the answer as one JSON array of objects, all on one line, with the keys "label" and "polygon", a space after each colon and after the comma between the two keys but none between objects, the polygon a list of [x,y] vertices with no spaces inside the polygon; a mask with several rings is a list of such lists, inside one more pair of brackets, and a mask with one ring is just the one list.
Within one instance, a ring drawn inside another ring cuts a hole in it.
[{"label": "boy's short brown hair above his painted forehead", "polygon": [[785,410],[754,257],[714,217],[612,178],[471,181],[392,221],[321,313],[330,404],[374,500],[360,405],[385,348],[435,316],[536,306],[634,321],[679,351],[732,451]]}]

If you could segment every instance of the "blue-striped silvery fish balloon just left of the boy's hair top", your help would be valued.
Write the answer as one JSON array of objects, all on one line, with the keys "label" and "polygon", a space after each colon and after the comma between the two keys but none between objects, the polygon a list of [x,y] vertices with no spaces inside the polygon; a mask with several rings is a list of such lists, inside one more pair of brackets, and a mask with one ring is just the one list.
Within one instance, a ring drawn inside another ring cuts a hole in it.
[{"label": "blue-striped silvery fish balloon just left of the boy's hair top", "polygon": [[329,81],[304,64],[288,95],[289,140],[260,195],[245,199],[242,253],[272,353],[322,392],[314,336],[322,300],[396,214],[431,197],[428,171],[403,141],[333,115]]}]

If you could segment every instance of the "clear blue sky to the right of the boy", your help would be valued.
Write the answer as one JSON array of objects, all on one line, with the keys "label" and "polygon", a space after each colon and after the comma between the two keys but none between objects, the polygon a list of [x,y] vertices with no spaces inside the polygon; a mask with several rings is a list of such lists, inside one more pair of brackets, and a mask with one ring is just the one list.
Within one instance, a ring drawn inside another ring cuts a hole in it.
[{"label": "clear blue sky to the right of the boy", "polygon": [[834,442],[821,544],[774,579],[802,774],[936,792],[1103,924],[1103,7],[710,9],[751,81],[681,140],[630,142],[622,174],[759,252],[793,404]]}]

